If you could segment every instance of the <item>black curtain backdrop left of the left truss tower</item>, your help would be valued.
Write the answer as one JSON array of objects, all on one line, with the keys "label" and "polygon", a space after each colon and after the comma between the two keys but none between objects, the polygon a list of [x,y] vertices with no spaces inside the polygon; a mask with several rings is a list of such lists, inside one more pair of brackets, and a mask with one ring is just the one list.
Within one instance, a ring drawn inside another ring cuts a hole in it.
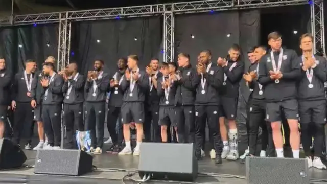
[{"label": "black curtain backdrop left of the left truss tower", "polygon": [[0,28],[0,55],[13,73],[24,70],[24,61],[36,60],[39,69],[45,58],[58,53],[58,25],[29,25]]}]

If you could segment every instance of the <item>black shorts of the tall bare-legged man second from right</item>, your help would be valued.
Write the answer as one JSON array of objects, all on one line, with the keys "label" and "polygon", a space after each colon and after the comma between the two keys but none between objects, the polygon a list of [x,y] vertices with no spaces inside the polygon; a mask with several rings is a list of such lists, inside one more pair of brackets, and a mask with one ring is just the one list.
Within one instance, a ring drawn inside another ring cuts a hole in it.
[{"label": "black shorts of the tall bare-legged man second from right", "polygon": [[296,99],[284,100],[280,102],[267,102],[266,119],[268,122],[281,121],[281,109],[285,118],[291,120],[298,119],[298,104]]}]

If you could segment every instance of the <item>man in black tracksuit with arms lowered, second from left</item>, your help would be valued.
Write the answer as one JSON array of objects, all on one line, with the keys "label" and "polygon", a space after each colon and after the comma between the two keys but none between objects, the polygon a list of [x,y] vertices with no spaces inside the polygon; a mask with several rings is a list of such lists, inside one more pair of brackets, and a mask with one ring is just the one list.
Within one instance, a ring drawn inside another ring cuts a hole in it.
[{"label": "man in black tracksuit with arms lowered, second from left", "polygon": [[14,77],[12,86],[11,108],[14,110],[13,142],[20,145],[21,134],[25,132],[27,143],[25,149],[31,149],[33,135],[34,109],[31,106],[31,88],[36,62],[27,60],[25,71],[19,72]]}]

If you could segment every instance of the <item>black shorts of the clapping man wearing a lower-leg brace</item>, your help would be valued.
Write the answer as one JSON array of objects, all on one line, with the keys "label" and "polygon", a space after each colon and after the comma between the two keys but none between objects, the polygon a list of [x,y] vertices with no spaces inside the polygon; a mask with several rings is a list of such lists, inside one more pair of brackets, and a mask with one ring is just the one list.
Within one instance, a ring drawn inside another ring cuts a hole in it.
[{"label": "black shorts of the clapping man wearing a lower-leg brace", "polygon": [[239,99],[232,97],[221,97],[219,117],[225,117],[228,120],[235,120],[237,114],[237,105]]}]

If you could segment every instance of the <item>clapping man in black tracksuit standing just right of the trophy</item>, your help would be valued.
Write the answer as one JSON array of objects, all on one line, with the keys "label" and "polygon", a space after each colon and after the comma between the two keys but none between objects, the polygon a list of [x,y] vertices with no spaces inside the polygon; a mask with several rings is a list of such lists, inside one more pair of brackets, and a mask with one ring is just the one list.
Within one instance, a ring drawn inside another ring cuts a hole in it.
[{"label": "clapping man in black tracksuit standing just right of the trophy", "polygon": [[[104,62],[96,60],[85,82],[85,129],[91,131],[91,152],[101,154],[106,118],[106,98],[110,76],[103,72]],[[97,129],[97,130],[96,130]]]}]

